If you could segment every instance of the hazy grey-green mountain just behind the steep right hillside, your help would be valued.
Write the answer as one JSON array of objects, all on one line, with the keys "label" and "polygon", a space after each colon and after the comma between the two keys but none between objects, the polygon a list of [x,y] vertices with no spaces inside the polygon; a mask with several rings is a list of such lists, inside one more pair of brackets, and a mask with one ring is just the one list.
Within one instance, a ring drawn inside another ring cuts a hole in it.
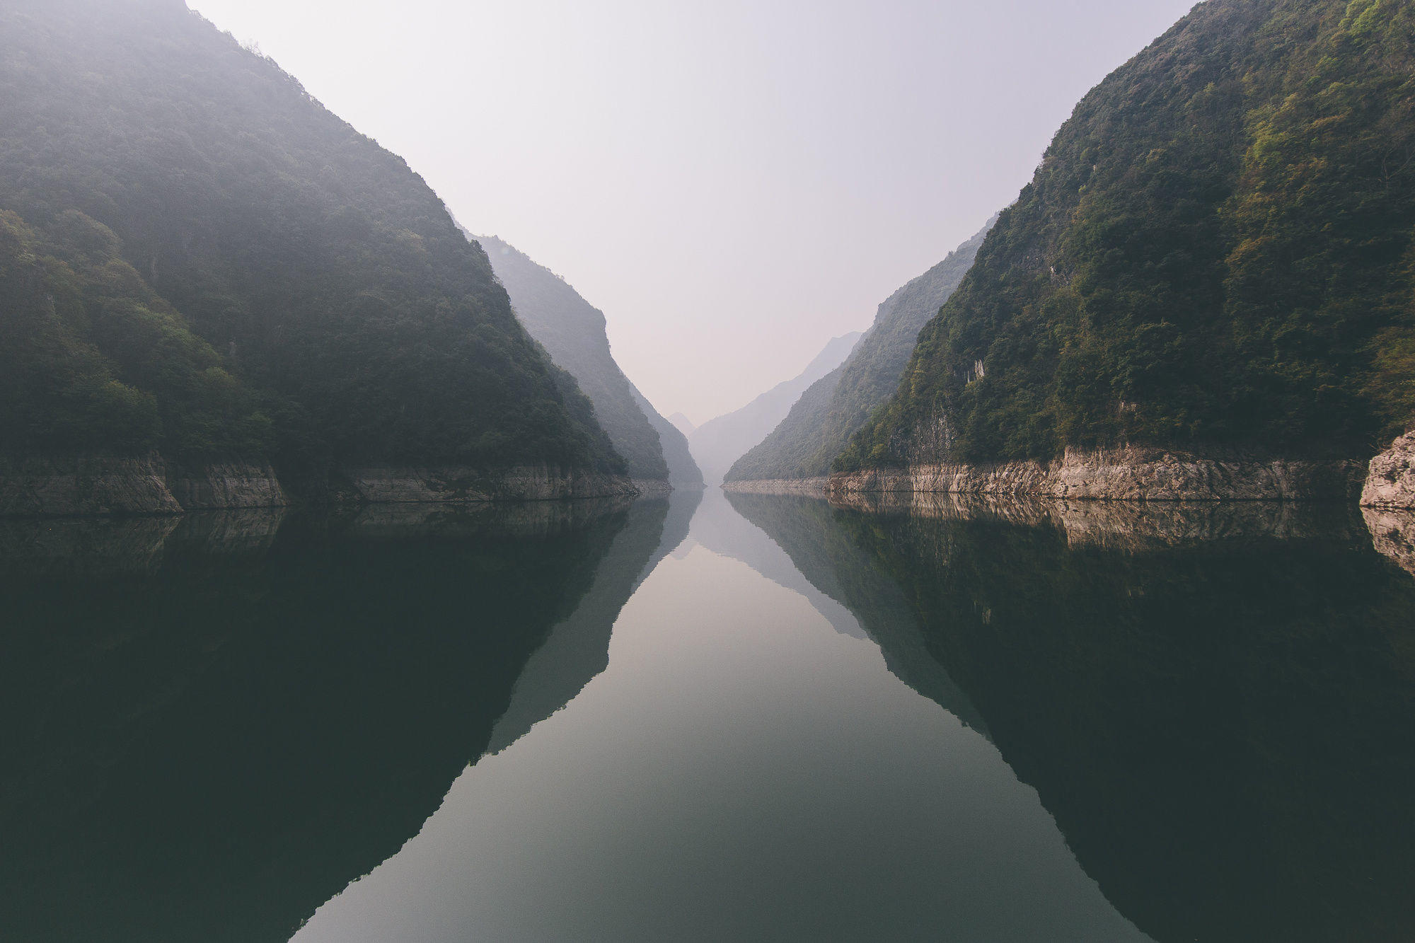
[{"label": "hazy grey-green mountain just behind the steep right hillside", "polygon": [[920,328],[972,268],[998,217],[948,258],[890,295],[874,324],[841,367],[815,381],[780,426],[727,471],[727,481],[812,479],[829,474],[850,436],[899,389]]}]

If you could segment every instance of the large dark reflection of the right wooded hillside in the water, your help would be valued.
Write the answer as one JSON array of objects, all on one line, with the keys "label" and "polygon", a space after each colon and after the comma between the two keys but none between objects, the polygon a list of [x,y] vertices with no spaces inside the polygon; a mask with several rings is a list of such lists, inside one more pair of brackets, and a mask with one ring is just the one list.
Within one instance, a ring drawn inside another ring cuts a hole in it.
[{"label": "large dark reflection of the right wooded hillside in the water", "polygon": [[1341,510],[1044,511],[836,522],[1142,930],[1408,940],[1415,583]]}]

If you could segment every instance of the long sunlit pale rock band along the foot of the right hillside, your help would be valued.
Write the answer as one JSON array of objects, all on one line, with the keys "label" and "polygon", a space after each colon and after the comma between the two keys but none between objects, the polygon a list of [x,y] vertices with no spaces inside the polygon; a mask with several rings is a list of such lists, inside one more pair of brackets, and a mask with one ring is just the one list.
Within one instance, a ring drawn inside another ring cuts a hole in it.
[{"label": "long sunlit pale rock band along the foot of the right hillside", "polygon": [[1358,462],[1204,456],[1169,449],[1067,449],[1053,462],[918,464],[833,474],[832,497],[934,491],[1124,501],[1341,501],[1361,490]]}]

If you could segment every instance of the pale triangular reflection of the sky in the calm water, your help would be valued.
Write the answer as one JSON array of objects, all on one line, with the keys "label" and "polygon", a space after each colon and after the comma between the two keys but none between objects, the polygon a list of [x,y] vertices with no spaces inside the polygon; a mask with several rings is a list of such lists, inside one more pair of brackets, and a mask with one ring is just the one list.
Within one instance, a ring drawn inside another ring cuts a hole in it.
[{"label": "pale triangular reflection of the sky in the calm water", "polygon": [[1145,939],[996,749],[821,599],[709,493],[608,667],[294,939]]}]

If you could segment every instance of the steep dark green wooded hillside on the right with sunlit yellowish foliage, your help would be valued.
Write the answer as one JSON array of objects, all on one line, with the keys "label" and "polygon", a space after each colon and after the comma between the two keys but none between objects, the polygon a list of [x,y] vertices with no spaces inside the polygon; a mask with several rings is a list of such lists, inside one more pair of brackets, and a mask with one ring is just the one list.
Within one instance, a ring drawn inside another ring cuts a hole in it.
[{"label": "steep dark green wooded hillside on the right with sunlit yellowish foliage", "polygon": [[1081,101],[839,467],[1370,455],[1415,415],[1412,231],[1415,6],[1208,0]]}]

